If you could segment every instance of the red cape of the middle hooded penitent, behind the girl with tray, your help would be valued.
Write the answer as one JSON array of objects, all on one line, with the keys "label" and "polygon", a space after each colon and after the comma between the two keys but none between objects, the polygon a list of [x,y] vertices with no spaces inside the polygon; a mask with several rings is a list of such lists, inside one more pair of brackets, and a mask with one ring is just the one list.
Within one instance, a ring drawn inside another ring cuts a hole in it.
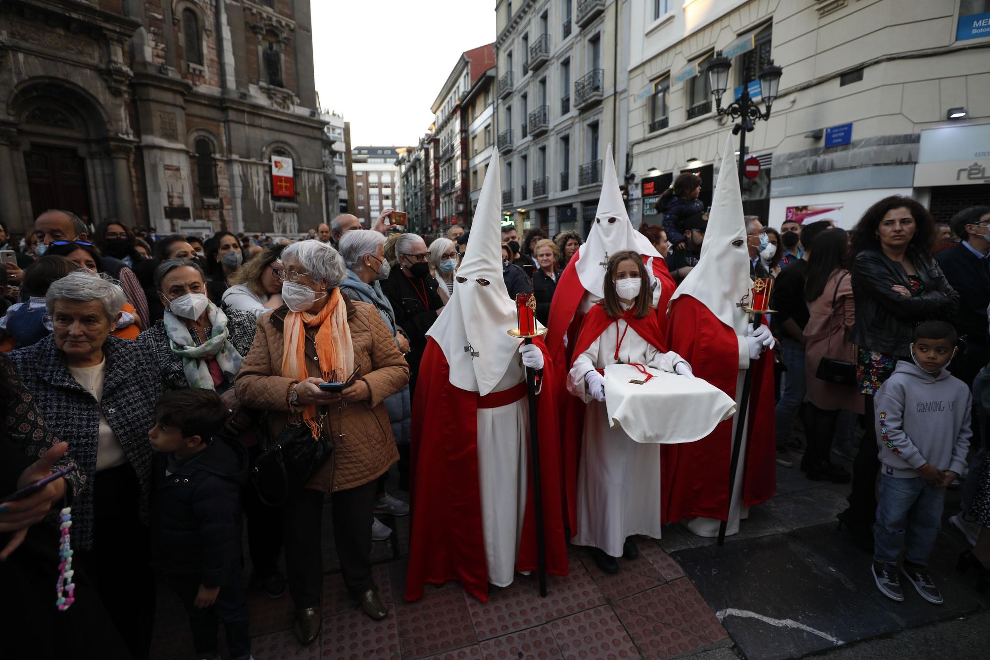
[{"label": "red cape of the middle hooded penitent, behind the girl with tray", "polygon": [[[547,319],[546,348],[554,365],[569,365],[574,354],[578,330],[581,327],[583,315],[577,313],[577,308],[584,297],[585,288],[577,276],[575,269],[580,253],[575,254],[567,268],[557,280],[553,290],[553,300],[550,302],[550,314]],[[644,258],[644,263],[647,258]],[[656,305],[656,324],[660,333],[661,343],[666,344],[667,304],[674,293],[673,277],[667,271],[667,264],[660,258],[653,259],[653,275],[660,281],[660,299]],[[605,272],[602,272],[605,277]],[[599,333],[601,334],[601,333]],[[567,346],[564,346],[564,335],[567,336]],[[597,337],[598,335],[595,335]],[[589,342],[590,344],[590,342]],[[587,346],[585,347],[587,348]],[[562,510],[567,514],[567,524],[571,532],[577,529],[577,464],[581,456],[581,434],[584,430],[584,401],[577,396],[564,395],[567,391],[567,370],[561,369],[556,375],[555,389],[561,392],[563,399],[558,406],[560,419],[561,448],[563,459],[560,476],[563,502]],[[547,491],[544,489],[544,493]]]}]

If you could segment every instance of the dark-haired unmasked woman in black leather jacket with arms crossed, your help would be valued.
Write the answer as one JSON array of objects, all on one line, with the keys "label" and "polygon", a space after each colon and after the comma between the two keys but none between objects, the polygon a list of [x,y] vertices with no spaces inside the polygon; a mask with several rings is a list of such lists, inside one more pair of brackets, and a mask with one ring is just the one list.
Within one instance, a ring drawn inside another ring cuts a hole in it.
[{"label": "dark-haired unmasked woman in black leather jacket with arms crossed", "polygon": [[911,359],[915,326],[947,319],[958,305],[958,295],[930,256],[934,240],[932,214],[911,197],[899,195],[869,207],[851,234],[856,308],[852,338],[858,347],[856,380],[866,395],[866,433],[853,466],[849,507],[839,517],[861,545],[872,546],[876,519],[874,487],[880,464],[873,395],[898,360]]}]

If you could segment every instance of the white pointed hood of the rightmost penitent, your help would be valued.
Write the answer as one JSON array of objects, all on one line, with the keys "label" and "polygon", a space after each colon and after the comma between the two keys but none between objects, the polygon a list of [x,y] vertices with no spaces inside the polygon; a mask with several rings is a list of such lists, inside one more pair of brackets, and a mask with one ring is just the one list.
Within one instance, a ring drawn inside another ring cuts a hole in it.
[{"label": "white pointed hood of the rightmost penitent", "polygon": [[[708,307],[720,321],[734,328],[736,334],[744,335],[749,315],[737,305],[752,288],[752,279],[749,278],[743,195],[733,148],[730,133],[726,136],[701,258],[674,291],[673,298],[690,295]],[[735,245],[737,241],[742,243]]]}]

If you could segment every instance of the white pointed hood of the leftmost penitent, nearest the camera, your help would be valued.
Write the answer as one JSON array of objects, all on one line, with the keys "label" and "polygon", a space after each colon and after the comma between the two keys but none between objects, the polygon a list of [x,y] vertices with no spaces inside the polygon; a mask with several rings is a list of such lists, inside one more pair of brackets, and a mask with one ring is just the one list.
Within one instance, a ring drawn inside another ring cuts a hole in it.
[{"label": "white pointed hood of the leftmost penitent, nearest the camera", "polygon": [[496,153],[481,186],[453,295],[427,332],[444,351],[450,384],[481,395],[491,392],[512,361],[519,360],[522,343],[508,333],[518,327],[518,318],[502,278],[501,168]]}]

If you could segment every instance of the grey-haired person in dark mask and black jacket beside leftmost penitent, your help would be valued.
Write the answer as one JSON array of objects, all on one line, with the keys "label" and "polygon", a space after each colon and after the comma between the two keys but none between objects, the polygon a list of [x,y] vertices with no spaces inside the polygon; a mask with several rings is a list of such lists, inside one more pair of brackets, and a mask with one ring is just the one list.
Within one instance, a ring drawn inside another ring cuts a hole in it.
[{"label": "grey-haired person in dark mask and black jacket beside leftmost penitent", "polygon": [[444,308],[437,280],[430,276],[430,253],[422,237],[402,234],[395,243],[396,266],[381,281],[381,290],[395,310],[395,321],[409,336],[409,389],[416,395],[416,376],[427,347],[427,330]]}]

